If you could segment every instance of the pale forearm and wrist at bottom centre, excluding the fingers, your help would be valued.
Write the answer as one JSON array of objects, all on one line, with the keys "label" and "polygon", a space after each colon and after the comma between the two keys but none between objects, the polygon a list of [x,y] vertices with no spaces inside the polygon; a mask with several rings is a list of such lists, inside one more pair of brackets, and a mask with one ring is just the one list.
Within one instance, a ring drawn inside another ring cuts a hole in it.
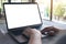
[{"label": "pale forearm and wrist at bottom centre, excluding the fingers", "polygon": [[42,44],[41,33],[38,31],[34,31],[34,33],[30,36],[29,44]]}]

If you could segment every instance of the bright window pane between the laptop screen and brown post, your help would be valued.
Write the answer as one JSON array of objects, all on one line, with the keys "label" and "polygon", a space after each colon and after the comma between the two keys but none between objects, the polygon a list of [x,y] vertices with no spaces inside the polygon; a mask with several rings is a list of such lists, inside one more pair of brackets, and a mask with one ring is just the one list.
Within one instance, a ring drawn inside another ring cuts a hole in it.
[{"label": "bright window pane between the laptop screen and brown post", "polygon": [[35,0],[38,3],[42,19],[50,20],[51,15],[51,0]]}]

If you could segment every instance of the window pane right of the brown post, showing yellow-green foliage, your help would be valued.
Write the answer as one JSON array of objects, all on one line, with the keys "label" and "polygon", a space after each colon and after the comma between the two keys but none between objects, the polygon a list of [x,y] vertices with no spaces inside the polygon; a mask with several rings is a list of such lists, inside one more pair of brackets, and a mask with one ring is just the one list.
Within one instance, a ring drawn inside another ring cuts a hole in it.
[{"label": "window pane right of the brown post, showing yellow-green foliage", "polygon": [[53,21],[66,24],[66,0],[53,0]]}]

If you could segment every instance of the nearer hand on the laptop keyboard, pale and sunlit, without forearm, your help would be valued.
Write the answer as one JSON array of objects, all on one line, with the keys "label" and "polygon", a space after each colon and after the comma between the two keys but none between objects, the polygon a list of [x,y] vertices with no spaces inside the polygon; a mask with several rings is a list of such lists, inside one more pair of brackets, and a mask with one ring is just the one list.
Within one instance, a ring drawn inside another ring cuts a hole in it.
[{"label": "nearer hand on the laptop keyboard, pale and sunlit, without forearm", "polygon": [[23,32],[26,36],[40,36],[41,37],[41,32],[36,29],[31,29],[26,28],[25,31]]}]

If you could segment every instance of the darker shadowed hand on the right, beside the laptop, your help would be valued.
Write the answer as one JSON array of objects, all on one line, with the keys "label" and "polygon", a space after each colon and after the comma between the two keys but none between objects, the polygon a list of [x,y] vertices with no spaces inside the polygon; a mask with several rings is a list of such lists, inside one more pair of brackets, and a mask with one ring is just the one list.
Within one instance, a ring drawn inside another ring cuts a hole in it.
[{"label": "darker shadowed hand on the right, beside the laptop", "polygon": [[48,35],[55,35],[59,30],[54,26],[47,26],[41,31],[42,34],[45,34],[47,32]]}]

